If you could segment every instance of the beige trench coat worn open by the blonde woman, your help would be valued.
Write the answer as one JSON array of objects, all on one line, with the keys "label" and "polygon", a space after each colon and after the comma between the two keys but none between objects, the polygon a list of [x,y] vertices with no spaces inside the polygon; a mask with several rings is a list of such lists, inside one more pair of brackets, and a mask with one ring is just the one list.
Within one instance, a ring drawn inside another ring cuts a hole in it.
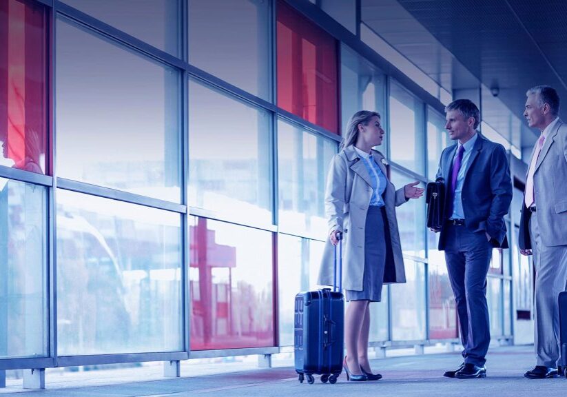
[{"label": "beige trench coat worn open by the blonde woman", "polygon": [[[372,154],[386,175],[386,167],[382,163],[384,156],[375,150],[372,150]],[[350,145],[336,154],[331,161],[325,192],[325,215],[329,220],[329,231],[321,261],[319,285],[333,285],[334,246],[329,240],[329,234],[333,230],[339,230],[343,232],[344,238],[342,287],[362,291],[364,226],[372,198],[372,187],[367,168],[360,160],[362,159]],[[389,241],[386,240],[386,245],[391,246],[392,255],[386,256],[384,283],[406,282],[398,221],[395,217],[395,207],[406,201],[403,187],[396,191],[394,185],[388,181],[384,191],[384,204],[391,238]]]}]

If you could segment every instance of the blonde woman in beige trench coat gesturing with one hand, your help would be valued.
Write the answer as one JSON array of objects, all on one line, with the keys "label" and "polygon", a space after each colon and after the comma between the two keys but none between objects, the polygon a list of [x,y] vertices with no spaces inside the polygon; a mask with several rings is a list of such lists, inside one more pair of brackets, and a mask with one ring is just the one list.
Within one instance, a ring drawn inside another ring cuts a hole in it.
[{"label": "blonde woman in beige trench coat gesturing with one hand", "polygon": [[395,190],[386,176],[380,114],[361,110],[349,120],[340,152],[327,176],[325,214],[329,238],[319,274],[320,285],[332,285],[334,245],[343,240],[342,285],[349,301],[344,320],[347,356],[344,371],[353,381],[378,380],[368,360],[369,303],[380,302],[384,283],[405,283],[404,261],[395,206],[422,196],[419,181]]}]

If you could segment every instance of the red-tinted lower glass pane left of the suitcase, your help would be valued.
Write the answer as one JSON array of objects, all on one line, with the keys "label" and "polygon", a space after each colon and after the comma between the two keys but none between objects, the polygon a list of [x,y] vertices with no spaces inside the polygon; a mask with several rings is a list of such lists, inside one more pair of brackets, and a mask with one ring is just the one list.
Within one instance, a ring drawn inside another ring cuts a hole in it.
[{"label": "red-tinted lower glass pane left of the suitcase", "polygon": [[189,217],[191,349],[274,346],[272,234]]}]

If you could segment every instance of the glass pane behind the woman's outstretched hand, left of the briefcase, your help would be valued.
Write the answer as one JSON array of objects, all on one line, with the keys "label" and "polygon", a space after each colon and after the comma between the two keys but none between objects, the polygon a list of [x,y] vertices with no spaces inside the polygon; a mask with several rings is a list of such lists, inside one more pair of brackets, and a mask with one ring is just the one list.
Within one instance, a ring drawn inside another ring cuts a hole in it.
[{"label": "glass pane behind the woman's outstretched hand, left of the briefcase", "polygon": [[[401,189],[404,185],[415,182],[414,179],[393,168],[391,168],[391,181],[396,189]],[[417,186],[424,187],[422,183]],[[420,199],[411,199],[400,207],[396,207],[395,214],[398,218],[402,252],[406,255],[425,258],[425,196]]]}]

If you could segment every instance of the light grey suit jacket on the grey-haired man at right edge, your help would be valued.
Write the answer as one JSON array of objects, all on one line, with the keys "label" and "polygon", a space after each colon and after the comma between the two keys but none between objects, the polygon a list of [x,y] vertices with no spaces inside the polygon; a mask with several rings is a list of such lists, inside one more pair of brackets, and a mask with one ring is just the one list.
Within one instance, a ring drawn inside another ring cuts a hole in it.
[{"label": "light grey suit jacket on the grey-haired man at right edge", "polygon": [[[561,120],[549,132],[544,147],[539,152],[533,187],[539,234],[544,245],[567,245],[567,124]],[[518,238],[522,250],[532,248],[530,215],[526,203],[522,201]]]}]

